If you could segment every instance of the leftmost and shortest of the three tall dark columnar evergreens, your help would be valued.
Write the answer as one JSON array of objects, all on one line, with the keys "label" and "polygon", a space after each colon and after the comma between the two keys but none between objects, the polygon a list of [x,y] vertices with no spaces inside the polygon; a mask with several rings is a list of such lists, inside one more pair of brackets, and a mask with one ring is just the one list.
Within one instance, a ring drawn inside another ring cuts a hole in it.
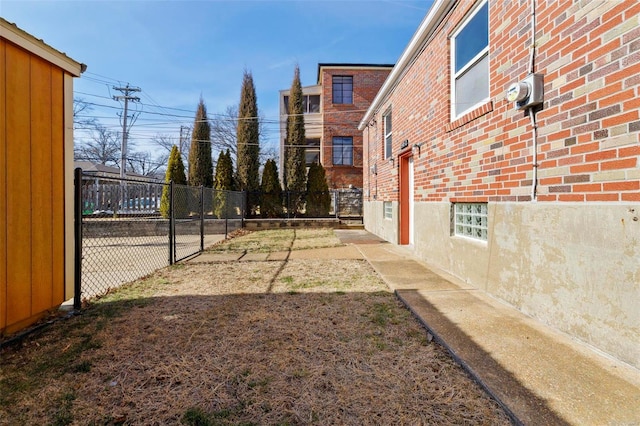
[{"label": "leftmost and shortest of the three tall dark columnar evergreens", "polygon": [[213,164],[211,162],[211,127],[207,119],[207,107],[200,98],[196,118],[191,132],[189,150],[189,185],[213,186]]}]

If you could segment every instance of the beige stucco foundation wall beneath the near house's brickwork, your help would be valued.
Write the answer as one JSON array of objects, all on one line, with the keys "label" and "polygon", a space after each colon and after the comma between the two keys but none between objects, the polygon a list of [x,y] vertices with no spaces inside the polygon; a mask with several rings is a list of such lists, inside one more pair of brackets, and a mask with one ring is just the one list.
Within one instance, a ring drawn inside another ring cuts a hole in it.
[{"label": "beige stucco foundation wall beneath the near house's brickwork", "polygon": [[[489,203],[486,242],[452,236],[450,208],[415,204],[418,258],[640,368],[640,205]],[[365,202],[365,228],[396,243],[397,213]]]}]

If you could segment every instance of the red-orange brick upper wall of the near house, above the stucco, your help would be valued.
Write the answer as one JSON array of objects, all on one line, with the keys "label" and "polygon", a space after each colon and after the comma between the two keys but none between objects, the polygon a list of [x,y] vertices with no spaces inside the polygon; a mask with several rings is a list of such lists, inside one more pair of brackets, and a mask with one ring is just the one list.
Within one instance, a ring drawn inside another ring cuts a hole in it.
[{"label": "red-orange brick upper wall of the near house, above the stucco", "polygon": [[[507,87],[528,74],[530,2],[490,1],[491,99],[452,122],[448,37],[473,5],[456,4],[387,102],[394,156],[404,140],[423,144],[414,155],[416,201],[531,200],[530,118],[505,100]],[[640,3],[536,5],[535,72],[544,74],[545,88],[538,200],[640,201]],[[382,156],[387,105],[362,133],[368,200],[397,199],[397,161]]]}]

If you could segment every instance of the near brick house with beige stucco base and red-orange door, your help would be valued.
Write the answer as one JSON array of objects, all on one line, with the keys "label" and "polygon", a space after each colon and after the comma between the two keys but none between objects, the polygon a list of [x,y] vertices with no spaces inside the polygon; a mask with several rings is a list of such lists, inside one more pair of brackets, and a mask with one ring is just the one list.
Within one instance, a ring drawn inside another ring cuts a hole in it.
[{"label": "near brick house with beige stucco base and red-orange door", "polygon": [[436,0],[359,125],[365,227],[639,368],[639,92],[638,2]]}]

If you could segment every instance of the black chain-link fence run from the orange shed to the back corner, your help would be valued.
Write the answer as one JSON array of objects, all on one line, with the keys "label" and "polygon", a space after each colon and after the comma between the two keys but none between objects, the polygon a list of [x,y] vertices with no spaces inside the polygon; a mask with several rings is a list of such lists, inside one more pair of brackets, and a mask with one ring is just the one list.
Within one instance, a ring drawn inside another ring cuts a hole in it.
[{"label": "black chain-link fence run from the orange shed to the back corner", "polygon": [[76,169],[76,297],[104,295],[242,227],[243,193]]}]

